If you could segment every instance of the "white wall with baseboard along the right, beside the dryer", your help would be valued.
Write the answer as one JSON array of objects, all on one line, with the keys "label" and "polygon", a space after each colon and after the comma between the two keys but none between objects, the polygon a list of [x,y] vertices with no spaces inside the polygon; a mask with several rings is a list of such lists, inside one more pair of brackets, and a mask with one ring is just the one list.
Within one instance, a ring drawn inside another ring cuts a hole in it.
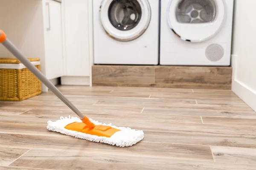
[{"label": "white wall with baseboard along the right, beside the dryer", "polygon": [[256,111],[256,0],[235,0],[232,90]]}]

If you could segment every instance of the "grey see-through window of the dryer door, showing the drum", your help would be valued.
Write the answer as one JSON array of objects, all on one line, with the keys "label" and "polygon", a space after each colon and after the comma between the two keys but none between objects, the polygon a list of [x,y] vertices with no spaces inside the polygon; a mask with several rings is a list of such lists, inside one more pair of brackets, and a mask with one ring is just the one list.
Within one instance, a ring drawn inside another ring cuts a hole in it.
[{"label": "grey see-through window of the dryer door, showing the drum", "polygon": [[181,0],[177,6],[179,23],[209,23],[215,19],[215,0]]}]

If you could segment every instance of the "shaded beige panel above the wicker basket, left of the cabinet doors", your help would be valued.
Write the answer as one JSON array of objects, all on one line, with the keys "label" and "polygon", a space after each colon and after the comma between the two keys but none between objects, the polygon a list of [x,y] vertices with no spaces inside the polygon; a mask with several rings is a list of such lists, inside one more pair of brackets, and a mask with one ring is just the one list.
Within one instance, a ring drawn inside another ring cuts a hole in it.
[{"label": "shaded beige panel above the wicker basket, left of the cabinet doors", "polygon": [[[28,58],[44,57],[41,0],[0,0],[0,29]],[[29,10],[28,10],[29,9]],[[33,49],[33,50],[31,50]],[[14,56],[0,45],[1,58]]]}]

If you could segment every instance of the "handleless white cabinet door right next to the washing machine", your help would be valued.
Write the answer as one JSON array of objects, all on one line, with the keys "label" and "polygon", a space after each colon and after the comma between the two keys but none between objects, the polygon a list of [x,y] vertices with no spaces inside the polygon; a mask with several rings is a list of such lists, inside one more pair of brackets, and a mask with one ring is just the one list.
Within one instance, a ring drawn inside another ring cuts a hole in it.
[{"label": "handleless white cabinet door right next to the washing machine", "polygon": [[88,0],[64,0],[67,76],[90,76]]}]

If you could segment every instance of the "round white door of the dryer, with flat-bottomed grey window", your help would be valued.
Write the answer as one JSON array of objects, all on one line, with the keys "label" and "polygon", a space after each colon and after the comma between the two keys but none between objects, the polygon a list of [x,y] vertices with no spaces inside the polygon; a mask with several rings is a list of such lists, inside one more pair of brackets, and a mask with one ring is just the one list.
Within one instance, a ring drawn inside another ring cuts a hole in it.
[{"label": "round white door of the dryer, with flat-bottomed grey window", "polygon": [[170,0],[167,22],[182,40],[202,42],[221,29],[224,7],[223,0]]}]

